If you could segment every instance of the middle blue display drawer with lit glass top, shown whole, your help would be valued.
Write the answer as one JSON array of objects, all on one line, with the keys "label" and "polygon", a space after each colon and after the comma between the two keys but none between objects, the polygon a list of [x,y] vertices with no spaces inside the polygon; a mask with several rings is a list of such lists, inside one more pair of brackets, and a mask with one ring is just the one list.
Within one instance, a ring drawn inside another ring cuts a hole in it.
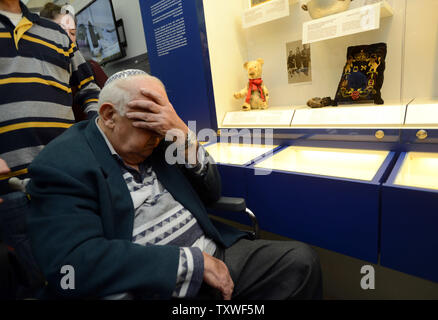
[{"label": "middle blue display drawer with lit glass top, shown whole", "polygon": [[377,263],[380,183],[394,156],[287,147],[246,173],[248,203],[263,230]]}]

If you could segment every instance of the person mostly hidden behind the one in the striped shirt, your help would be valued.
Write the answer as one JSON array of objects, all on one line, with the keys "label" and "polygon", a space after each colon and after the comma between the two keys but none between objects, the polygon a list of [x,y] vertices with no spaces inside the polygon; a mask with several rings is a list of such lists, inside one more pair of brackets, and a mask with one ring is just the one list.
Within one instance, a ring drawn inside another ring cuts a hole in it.
[{"label": "person mostly hidden behind the one in the striped shirt", "polygon": [[[63,13],[63,8],[54,3],[46,3],[40,12],[40,17],[53,20],[59,24],[65,32],[67,32],[70,40],[76,43],[76,27],[77,22],[71,13]],[[93,71],[94,80],[99,88],[103,88],[105,82],[108,80],[108,76],[103,71],[102,67],[94,60],[87,60],[88,65]],[[73,90],[73,96],[75,95],[75,90]],[[82,111],[78,104],[73,104],[73,113],[75,115],[76,121],[82,121],[87,118],[86,114]]]}]

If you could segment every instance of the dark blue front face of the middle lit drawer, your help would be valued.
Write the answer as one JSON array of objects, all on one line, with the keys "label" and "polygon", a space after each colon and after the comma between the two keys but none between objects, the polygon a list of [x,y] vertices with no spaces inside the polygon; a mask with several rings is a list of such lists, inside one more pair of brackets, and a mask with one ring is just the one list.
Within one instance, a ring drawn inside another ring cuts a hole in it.
[{"label": "dark blue front face of the middle lit drawer", "polygon": [[248,170],[248,202],[262,230],[377,263],[378,184]]}]

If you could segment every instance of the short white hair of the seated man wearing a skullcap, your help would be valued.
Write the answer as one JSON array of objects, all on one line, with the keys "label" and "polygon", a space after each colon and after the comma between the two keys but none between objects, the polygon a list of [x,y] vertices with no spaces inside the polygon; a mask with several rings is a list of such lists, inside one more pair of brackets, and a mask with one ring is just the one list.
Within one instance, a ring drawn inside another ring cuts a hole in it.
[{"label": "short white hair of the seated man wearing a skullcap", "polygon": [[157,77],[138,69],[128,69],[115,73],[105,82],[99,95],[99,110],[104,103],[111,103],[120,115],[125,115],[126,105],[132,100],[132,90],[123,84],[133,77],[146,77],[158,81],[163,88],[164,84]]}]

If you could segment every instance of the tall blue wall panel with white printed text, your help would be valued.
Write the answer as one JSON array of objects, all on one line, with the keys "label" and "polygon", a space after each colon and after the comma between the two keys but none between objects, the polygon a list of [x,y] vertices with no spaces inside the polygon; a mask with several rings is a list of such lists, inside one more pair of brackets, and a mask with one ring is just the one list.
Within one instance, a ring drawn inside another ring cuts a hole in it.
[{"label": "tall blue wall panel with white printed text", "polygon": [[[164,82],[181,119],[196,121],[197,131],[216,129],[202,0],[140,0],[140,8],[151,73]],[[180,40],[175,39],[172,26],[179,26]],[[170,37],[166,40],[170,45],[180,43],[179,47],[167,53],[163,37]]]}]

